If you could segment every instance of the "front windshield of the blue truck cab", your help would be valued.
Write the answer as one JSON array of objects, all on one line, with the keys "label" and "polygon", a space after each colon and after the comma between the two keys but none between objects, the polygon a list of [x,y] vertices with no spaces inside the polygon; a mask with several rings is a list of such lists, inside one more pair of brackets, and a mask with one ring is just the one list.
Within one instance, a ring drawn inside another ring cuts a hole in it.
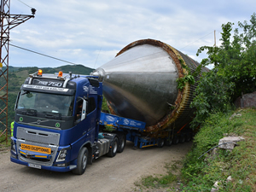
[{"label": "front windshield of the blue truck cab", "polygon": [[17,108],[32,109],[37,113],[61,113],[62,116],[72,116],[73,96],[21,90]]}]

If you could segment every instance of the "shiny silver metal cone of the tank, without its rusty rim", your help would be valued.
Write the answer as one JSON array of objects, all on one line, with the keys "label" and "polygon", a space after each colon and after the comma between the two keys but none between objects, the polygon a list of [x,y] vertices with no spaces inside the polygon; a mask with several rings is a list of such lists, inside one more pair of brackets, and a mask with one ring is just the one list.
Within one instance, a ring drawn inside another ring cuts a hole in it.
[{"label": "shiny silver metal cone of the tank, without its rusty rim", "polygon": [[114,113],[157,124],[177,98],[175,61],[154,44],[137,44],[119,53],[92,73],[103,82],[103,95]]}]

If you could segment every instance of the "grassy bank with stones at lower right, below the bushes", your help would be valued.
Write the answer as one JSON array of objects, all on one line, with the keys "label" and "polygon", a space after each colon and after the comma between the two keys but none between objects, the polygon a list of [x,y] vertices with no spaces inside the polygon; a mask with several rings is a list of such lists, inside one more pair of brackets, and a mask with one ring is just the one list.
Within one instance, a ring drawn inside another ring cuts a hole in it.
[{"label": "grassy bank with stones at lower right, below the bushes", "polygon": [[[235,115],[232,115],[235,114]],[[182,167],[170,166],[165,176],[143,177],[136,183],[141,191],[211,191],[218,181],[218,191],[256,191],[256,110],[252,108],[214,113],[208,118],[194,138],[191,151],[182,162]],[[232,118],[230,118],[232,117]],[[217,149],[198,159],[201,154],[218,145],[219,139],[241,136],[245,140],[232,151]],[[181,168],[181,174],[175,174]],[[231,177],[231,181],[227,178]]]}]

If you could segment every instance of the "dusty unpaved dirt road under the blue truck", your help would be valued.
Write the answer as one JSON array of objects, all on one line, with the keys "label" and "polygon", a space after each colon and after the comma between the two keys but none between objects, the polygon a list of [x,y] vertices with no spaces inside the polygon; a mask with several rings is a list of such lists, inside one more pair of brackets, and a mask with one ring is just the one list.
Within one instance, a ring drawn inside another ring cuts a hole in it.
[{"label": "dusty unpaved dirt road under the blue truck", "polygon": [[165,163],[181,160],[192,142],[137,150],[132,144],[113,158],[99,158],[81,176],[21,166],[10,162],[9,151],[0,152],[0,191],[133,191],[140,177],[165,174]]}]

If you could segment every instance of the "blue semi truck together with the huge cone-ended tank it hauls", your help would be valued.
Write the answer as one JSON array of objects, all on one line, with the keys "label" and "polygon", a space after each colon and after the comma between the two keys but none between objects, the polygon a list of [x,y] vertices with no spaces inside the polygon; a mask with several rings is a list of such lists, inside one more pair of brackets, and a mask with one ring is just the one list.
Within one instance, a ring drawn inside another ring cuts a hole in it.
[{"label": "blue semi truck together with the huge cone-ended tank it hauls", "polygon": [[[90,75],[38,70],[17,96],[10,160],[81,175],[100,156],[123,152],[126,141],[134,148],[189,142],[196,84],[179,90],[177,79],[197,66],[170,45],[143,39]],[[110,113],[102,113],[103,95]]]}]

